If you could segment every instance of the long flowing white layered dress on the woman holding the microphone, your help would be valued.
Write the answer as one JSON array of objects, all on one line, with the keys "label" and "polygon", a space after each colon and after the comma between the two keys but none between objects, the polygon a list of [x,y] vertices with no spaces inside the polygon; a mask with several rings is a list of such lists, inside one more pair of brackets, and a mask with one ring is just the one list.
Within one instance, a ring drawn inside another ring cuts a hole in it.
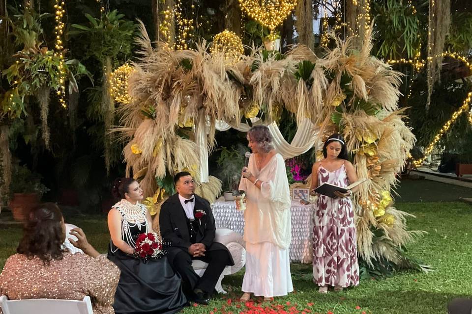
[{"label": "long flowing white layered dress on the woman holding the microphone", "polygon": [[276,154],[259,170],[251,154],[248,171],[263,184],[259,189],[245,178],[239,183],[239,189],[246,191],[242,291],[265,297],[287,295],[294,288],[289,258],[291,199],[284,159]]}]

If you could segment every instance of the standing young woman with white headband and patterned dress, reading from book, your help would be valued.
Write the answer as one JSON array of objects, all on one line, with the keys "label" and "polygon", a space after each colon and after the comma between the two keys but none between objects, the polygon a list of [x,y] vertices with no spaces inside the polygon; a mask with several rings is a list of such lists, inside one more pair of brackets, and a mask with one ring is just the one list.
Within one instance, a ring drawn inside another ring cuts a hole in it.
[{"label": "standing young woman with white headband and patterned dress, reading from book", "polygon": [[[357,181],[340,134],[327,138],[323,156],[312,168],[312,195],[318,194],[315,188],[323,183],[347,187]],[[354,209],[350,199],[353,190],[335,191],[334,197],[320,194],[314,204],[313,280],[321,293],[326,293],[329,286],[341,291],[359,284]]]}]

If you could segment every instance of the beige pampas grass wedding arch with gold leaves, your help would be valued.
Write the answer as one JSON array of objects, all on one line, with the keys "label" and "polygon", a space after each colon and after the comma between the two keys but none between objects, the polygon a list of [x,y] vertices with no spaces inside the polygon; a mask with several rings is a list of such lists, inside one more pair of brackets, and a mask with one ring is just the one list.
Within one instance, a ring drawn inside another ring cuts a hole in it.
[{"label": "beige pampas grass wedding arch with gold leaves", "polygon": [[253,49],[228,64],[222,54],[208,53],[206,43],[196,50],[159,43],[154,49],[141,30],[140,58],[128,82],[133,102],[119,108],[117,130],[127,142],[127,175],[133,172],[145,193],[154,194],[153,208],[172,193],[169,178],[181,170],[195,175],[198,193],[210,201],[221,192],[214,177],[200,182],[195,130],[178,127],[179,121],[203,126],[211,150],[216,120],[238,124],[241,112],[257,103],[271,123],[274,107],[284,105],[297,121],[309,117],[320,136],[342,133],[359,178],[368,179],[355,195],[360,257],[371,266],[381,260],[407,265],[401,248],[420,233],[406,230],[409,214],[395,209],[390,191],[414,136],[397,106],[401,74],[370,55],[370,31],[360,51],[332,36],[336,47],[323,58],[298,46],[286,54]]}]

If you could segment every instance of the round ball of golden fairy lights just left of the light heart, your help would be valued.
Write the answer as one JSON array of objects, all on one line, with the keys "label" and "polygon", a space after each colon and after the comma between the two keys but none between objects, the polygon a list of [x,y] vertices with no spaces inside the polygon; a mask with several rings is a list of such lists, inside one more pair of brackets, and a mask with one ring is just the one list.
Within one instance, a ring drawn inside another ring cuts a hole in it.
[{"label": "round ball of golden fairy lights just left of the light heart", "polygon": [[235,32],[225,29],[215,35],[210,52],[213,55],[224,53],[226,60],[236,62],[244,53],[244,47],[241,38]]}]

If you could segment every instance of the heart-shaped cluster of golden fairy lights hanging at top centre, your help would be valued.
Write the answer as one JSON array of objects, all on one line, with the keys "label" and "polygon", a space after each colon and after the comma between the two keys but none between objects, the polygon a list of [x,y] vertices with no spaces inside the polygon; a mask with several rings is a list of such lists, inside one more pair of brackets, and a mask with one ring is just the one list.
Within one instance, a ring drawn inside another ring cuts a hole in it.
[{"label": "heart-shaped cluster of golden fairy lights hanging at top centre", "polygon": [[273,32],[295,9],[297,0],[239,0],[247,15]]}]

